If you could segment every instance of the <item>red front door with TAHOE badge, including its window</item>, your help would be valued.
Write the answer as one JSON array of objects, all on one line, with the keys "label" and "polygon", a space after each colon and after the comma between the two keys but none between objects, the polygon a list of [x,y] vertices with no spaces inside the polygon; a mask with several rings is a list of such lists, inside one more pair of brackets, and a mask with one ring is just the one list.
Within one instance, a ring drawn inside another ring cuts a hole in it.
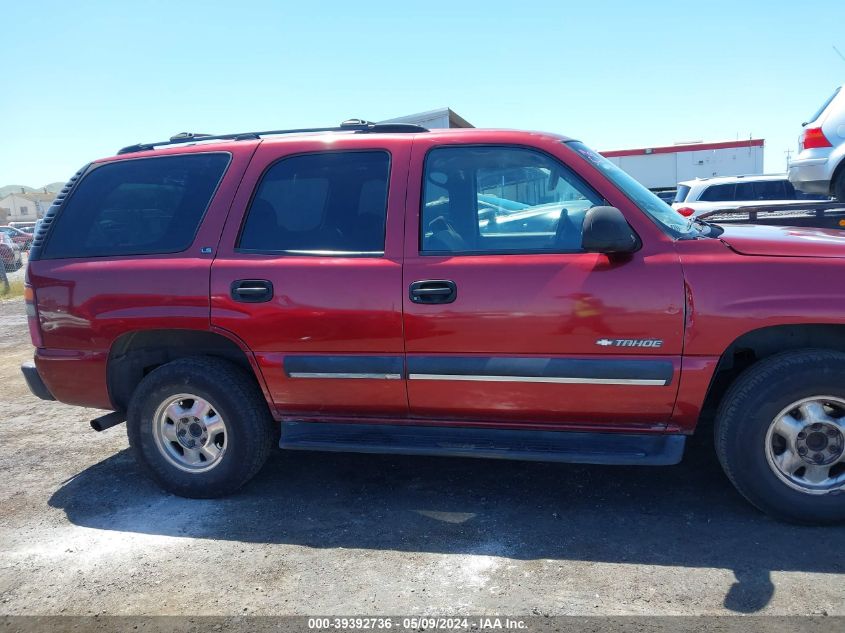
[{"label": "red front door with TAHOE badge, including its window", "polygon": [[662,428],[680,376],[678,258],[648,222],[633,223],[643,245],[628,259],[581,251],[584,214],[608,192],[547,145],[415,142],[404,267],[411,415]]}]

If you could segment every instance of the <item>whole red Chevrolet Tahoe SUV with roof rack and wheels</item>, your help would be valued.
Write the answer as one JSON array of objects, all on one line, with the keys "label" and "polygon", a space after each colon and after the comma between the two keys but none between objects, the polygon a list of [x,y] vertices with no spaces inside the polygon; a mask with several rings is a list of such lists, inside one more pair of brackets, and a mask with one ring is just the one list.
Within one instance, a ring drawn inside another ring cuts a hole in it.
[{"label": "whole red Chevrolet Tahoe SUV with roof rack and wheels", "polygon": [[[845,240],[688,220],[578,141],[353,122],[81,169],[35,236],[38,396],[231,493],[272,445],[677,463],[845,518]],[[838,280],[838,281],[837,281]]]}]

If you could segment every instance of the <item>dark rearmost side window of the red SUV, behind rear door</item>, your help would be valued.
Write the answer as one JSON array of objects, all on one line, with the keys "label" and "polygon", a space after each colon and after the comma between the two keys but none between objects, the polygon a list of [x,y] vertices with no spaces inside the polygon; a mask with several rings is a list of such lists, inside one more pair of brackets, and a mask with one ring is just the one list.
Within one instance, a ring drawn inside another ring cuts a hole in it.
[{"label": "dark rearmost side window of the red SUV, behind rear door", "polygon": [[49,233],[44,257],[183,251],[229,164],[225,153],[138,158],[89,173]]}]

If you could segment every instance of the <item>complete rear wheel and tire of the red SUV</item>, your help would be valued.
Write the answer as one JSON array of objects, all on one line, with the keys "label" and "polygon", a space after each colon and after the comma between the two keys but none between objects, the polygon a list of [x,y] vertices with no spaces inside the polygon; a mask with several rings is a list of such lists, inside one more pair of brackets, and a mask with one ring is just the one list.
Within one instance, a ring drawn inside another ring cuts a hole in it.
[{"label": "complete rear wheel and tire of the red SUV", "polygon": [[261,469],[274,443],[273,419],[255,379],[205,356],[147,375],[132,395],[126,429],[143,470],[168,492],[191,498],[235,492]]}]

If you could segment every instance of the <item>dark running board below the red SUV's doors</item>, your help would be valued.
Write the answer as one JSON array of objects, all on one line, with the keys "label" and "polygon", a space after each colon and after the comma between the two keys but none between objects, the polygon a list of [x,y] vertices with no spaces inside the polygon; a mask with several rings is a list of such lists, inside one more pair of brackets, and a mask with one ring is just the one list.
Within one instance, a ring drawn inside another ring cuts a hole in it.
[{"label": "dark running board below the red SUV's doors", "polygon": [[681,461],[685,442],[683,435],[283,422],[279,446],[306,451],[669,466]]}]

